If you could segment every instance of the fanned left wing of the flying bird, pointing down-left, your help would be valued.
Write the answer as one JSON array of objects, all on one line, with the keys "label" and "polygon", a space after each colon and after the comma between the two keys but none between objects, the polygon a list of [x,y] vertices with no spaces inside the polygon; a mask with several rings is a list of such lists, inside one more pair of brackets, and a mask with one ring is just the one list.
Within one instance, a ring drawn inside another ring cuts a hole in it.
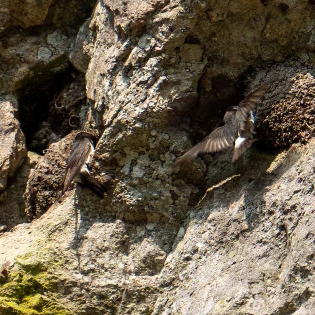
[{"label": "fanned left wing of the flying bird, pointing down-left", "polygon": [[230,148],[235,137],[226,126],[213,130],[204,140],[196,144],[187,153],[177,158],[175,165],[189,161],[198,155],[199,152],[214,153]]}]

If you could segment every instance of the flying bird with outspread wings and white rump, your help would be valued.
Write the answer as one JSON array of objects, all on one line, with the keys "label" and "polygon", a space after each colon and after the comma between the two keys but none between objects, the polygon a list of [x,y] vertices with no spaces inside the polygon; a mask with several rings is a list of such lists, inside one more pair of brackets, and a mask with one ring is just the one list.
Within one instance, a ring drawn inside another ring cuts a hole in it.
[{"label": "flying bird with outspread wings and white rump", "polygon": [[234,145],[232,163],[243,158],[243,153],[252,145],[254,117],[253,109],[260,97],[267,91],[268,84],[246,96],[238,106],[230,106],[224,115],[224,126],[213,130],[204,140],[196,144],[187,153],[177,158],[175,165],[189,161],[199,152],[214,153],[228,149]]}]

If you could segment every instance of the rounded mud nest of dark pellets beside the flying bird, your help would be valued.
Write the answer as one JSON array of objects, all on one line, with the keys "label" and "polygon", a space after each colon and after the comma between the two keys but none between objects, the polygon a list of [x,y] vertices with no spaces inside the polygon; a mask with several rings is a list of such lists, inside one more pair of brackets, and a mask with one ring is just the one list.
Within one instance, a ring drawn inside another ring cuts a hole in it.
[{"label": "rounded mud nest of dark pellets beside the flying bird", "polygon": [[269,147],[305,143],[315,136],[314,74],[285,79],[274,81],[256,110],[256,136]]}]

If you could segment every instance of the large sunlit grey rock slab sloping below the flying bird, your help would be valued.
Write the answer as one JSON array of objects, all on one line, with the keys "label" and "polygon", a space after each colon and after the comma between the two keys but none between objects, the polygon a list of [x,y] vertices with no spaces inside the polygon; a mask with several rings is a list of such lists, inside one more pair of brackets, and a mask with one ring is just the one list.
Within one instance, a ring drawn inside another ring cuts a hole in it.
[{"label": "large sunlit grey rock slab sloping below the flying bird", "polygon": [[167,257],[153,314],[314,313],[314,150],[254,153],[257,167],[206,194]]}]

